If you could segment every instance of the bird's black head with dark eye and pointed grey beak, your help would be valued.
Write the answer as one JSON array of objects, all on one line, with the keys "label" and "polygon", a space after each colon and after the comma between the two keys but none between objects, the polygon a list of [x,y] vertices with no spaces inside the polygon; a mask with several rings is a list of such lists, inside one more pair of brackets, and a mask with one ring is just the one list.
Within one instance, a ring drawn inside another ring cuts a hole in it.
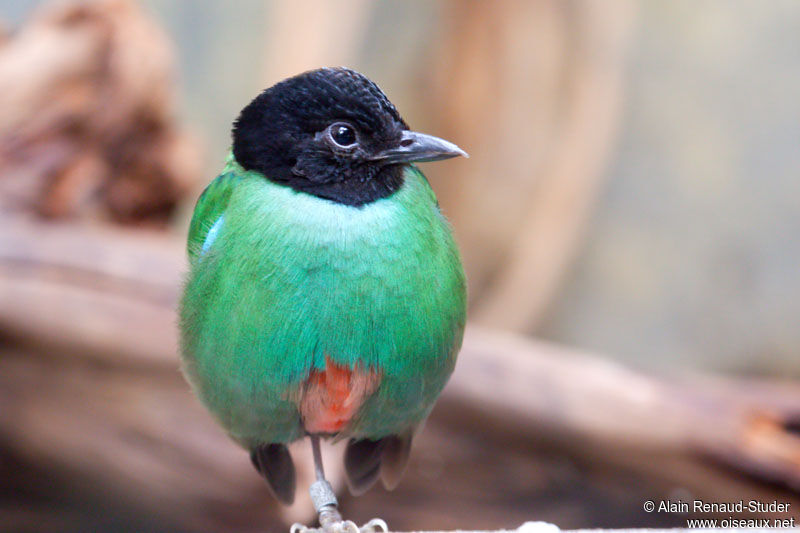
[{"label": "bird's black head with dark eye and pointed grey beak", "polygon": [[404,164],[466,155],[409,131],[378,86],[347,68],[305,72],[259,94],[234,123],[233,154],[267,179],[353,206],[397,191]]}]

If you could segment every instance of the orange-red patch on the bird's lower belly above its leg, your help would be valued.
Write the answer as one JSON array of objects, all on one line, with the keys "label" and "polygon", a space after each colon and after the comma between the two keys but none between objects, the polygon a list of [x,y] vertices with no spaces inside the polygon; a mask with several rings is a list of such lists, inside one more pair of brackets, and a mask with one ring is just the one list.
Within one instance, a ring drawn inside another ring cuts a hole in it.
[{"label": "orange-red patch on the bird's lower belly above its leg", "polygon": [[299,408],[306,431],[341,431],[375,392],[380,379],[374,370],[350,368],[325,357],[325,370],[312,370],[302,387]]}]

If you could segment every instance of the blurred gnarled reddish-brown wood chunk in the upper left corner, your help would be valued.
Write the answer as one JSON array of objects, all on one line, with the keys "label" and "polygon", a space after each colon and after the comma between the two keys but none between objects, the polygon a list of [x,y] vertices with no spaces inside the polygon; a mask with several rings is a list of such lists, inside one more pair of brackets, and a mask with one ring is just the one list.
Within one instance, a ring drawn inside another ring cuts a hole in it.
[{"label": "blurred gnarled reddish-brown wood chunk in the upper left corner", "polygon": [[132,0],[39,9],[0,46],[0,207],[164,224],[200,170],[172,56]]}]

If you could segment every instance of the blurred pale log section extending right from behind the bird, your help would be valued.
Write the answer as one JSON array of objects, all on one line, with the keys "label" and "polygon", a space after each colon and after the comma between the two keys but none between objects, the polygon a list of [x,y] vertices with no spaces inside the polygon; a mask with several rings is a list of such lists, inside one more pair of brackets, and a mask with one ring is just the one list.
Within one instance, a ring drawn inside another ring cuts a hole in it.
[{"label": "blurred pale log section extending right from behind the bird", "polygon": [[[644,375],[596,355],[472,328],[448,387],[458,401],[583,437],[692,450],[800,488],[800,386]],[[766,392],[769,391],[767,394]]]}]

